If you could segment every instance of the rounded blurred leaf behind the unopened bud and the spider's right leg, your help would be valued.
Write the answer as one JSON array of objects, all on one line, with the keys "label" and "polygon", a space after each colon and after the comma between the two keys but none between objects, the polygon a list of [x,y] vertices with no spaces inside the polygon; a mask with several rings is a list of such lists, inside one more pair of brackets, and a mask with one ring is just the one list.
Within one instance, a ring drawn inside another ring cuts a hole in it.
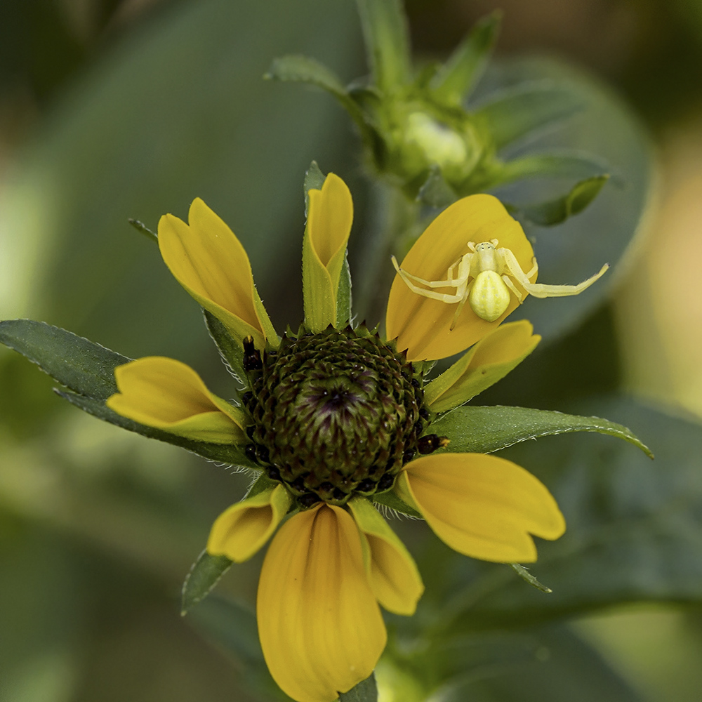
[{"label": "rounded blurred leaf behind the unopened bud and the spider's right leg", "polygon": [[[562,197],[576,181],[609,173],[611,184],[578,216],[552,227],[525,222],[524,230],[534,245],[539,282],[577,284],[603,263],[612,270],[581,295],[548,300],[529,296],[512,313],[510,319],[534,324],[543,345],[576,328],[616,288],[618,262],[640,229],[654,168],[649,138],[628,106],[609,87],[562,62],[543,58],[491,62],[473,102],[484,105],[499,91],[519,94],[525,84],[549,83],[564,86],[574,95],[571,106],[580,102],[582,109],[574,110],[557,128],[534,131],[528,143],[515,143],[500,155],[512,162],[510,168],[516,161],[522,173],[557,167],[563,175],[529,178],[491,192],[505,202],[538,204]],[[564,111],[568,102],[564,95]],[[594,159],[587,154],[595,154]]]}]

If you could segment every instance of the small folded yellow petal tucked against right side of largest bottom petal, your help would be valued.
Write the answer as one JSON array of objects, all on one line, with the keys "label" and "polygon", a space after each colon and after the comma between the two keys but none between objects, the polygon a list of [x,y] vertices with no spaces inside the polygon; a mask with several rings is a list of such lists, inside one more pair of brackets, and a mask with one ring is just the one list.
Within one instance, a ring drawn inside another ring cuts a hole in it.
[{"label": "small folded yellow petal tucked against right side of largest bottom petal", "polygon": [[366,498],[352,498],[348,505],[367,541],[366,570],[378,602],[395,614],[414,614],[424,592],[414,559]]}]

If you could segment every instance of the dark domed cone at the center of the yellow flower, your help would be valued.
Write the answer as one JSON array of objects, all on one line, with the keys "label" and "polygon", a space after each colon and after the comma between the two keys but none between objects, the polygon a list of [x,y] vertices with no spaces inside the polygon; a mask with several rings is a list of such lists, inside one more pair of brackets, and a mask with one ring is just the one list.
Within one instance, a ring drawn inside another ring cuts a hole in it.
[{"label": "dark domed cone at the center of the yellow flower", "polygon": [[386,491],[418,450],[436,448],[420,439],[429,418],[420,370],[365,326],[245,350],[247,451],[301,505]]}]

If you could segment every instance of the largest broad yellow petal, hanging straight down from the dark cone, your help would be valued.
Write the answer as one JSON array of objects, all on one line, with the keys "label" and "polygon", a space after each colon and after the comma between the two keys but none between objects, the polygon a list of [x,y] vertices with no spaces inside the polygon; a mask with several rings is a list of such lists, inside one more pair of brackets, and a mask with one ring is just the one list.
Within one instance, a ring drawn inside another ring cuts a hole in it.
[{"label": "largest broad yellow petal, hanging straight down from the dark cone", "polygon": [[298,702],[332,702],[371,674],[385,648],[361,537],[338,507],[300,512],[278,531],[256,609],[268,669]]}]

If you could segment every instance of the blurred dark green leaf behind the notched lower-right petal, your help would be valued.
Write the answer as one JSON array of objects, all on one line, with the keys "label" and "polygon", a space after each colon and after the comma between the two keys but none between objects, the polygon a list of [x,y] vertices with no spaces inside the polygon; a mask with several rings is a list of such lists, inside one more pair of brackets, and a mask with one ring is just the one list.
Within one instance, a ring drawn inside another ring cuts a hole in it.
[{"label": "blurred dark green leaf behind the notched lower-right petal", "polygon": [[566,534],[539,543],[534,566],[553,592],[545,597],[509,571],[456,559],[451,578],[427,583],[448,630],[519,627],[623,602],[702,602],[702,427],[627,399],[600,402],[597,411],[632,425],[656,461],[600,437],[524,442],[502,453],[543,480],[566,517]]}]

